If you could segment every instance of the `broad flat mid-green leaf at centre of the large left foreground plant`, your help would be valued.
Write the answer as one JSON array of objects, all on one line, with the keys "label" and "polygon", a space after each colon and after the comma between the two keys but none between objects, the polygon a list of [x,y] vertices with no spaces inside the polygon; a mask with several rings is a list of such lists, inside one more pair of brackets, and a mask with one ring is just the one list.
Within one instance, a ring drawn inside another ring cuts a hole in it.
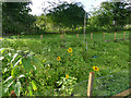
[{"label": "broad flat mid-green leaf at centre of the large left foreground plant", "polygon": [[22,63],[23,63],[23,66],[24,66],[24,69],[27,71],[27,72],[29,72],[31,70],[33,70],[33,65],[32,65],[32,63],[31,63],[31,59],[29,58],[23,58],[22,59]]}]

